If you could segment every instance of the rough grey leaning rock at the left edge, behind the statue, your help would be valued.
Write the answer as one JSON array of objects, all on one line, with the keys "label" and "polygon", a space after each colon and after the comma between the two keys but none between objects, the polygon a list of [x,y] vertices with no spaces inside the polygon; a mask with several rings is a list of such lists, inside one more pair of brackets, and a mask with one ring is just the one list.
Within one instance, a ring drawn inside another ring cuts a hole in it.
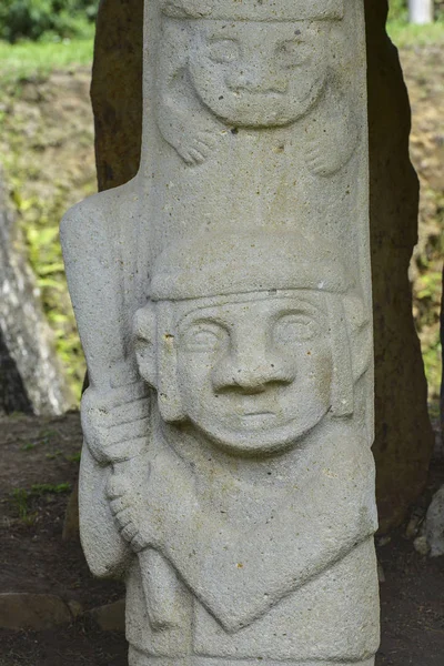
[{"label": "rough grey leaning rock at the left edge, behind the statue", "polygon": [[0,415],[62,414],[71,404],[0,172]]}]

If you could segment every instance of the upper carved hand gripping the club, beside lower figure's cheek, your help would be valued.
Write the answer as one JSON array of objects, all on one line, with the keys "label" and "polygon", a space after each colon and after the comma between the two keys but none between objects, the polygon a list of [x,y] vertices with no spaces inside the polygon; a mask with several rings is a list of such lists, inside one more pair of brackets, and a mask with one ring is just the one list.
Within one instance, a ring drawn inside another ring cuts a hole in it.
[{"label": "upper carved hand gripping the club, beside lower figure's cheek", "polygon": [[88,389],[81,404],[82,427],[94,458],[118,463],[139,455],[148,445],[150,394],[139,381],[105,393]]}]

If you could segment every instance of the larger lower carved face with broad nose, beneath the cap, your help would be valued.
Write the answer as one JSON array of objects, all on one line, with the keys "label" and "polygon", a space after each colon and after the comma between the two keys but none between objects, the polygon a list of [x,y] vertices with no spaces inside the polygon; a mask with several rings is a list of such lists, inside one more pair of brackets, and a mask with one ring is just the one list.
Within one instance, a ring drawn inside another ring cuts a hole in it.
[{"label": "larger lower carved face with broad nose, beneath the cap", "polygon": [[238,454],[285,450],[330,407],[332,356],[324,296],[246,294],[194,301],[176,329],[182,408]]}]

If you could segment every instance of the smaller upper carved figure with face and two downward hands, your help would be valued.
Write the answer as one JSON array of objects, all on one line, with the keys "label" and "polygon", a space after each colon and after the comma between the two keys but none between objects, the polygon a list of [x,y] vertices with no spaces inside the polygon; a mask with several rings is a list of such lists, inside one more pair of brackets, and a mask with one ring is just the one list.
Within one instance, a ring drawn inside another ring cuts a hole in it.
[{"label": "smaller upper carved figure with face and two downward hands", "polygon": [[211,158],[228,128],[279,134],[303,119],[297,150],[309,169],[327,175],[345,164],[357,137],[346,91],[334,79],[330,39],[342,2],[310,11],[297,2],[261,4],[260,17],[254,2],[208,7],[205,0],[163,6],[157,117],[164,139],[195,165]]}]

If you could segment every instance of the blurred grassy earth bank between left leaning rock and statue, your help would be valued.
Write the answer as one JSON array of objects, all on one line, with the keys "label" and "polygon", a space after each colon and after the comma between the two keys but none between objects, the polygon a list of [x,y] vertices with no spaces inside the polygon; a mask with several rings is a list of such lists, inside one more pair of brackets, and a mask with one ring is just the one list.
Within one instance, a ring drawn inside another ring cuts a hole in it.
[{"label": "blurred grassy earth bank between left leaning rock and statue", "polygon": [[92,39],[16,44],[0,40],[0,160],[56,349],[77,396],[85,364],[68,295],[59,224],[73,203],[97,191],[88,100],[92,50]]}]

